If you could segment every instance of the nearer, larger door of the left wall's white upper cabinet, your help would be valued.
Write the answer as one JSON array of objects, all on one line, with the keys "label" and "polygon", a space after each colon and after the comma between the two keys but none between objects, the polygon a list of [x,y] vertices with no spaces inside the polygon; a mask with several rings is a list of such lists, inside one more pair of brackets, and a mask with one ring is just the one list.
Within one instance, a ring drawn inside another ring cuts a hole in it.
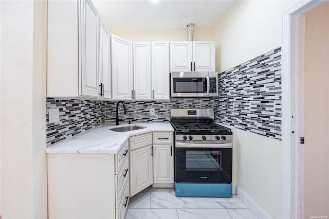
[{"label": "nearer, larger door of the left wall's white upper cabinet", "polygon": [[99,14],[90,1],[81,1],[81,95],[99,97]]}]

